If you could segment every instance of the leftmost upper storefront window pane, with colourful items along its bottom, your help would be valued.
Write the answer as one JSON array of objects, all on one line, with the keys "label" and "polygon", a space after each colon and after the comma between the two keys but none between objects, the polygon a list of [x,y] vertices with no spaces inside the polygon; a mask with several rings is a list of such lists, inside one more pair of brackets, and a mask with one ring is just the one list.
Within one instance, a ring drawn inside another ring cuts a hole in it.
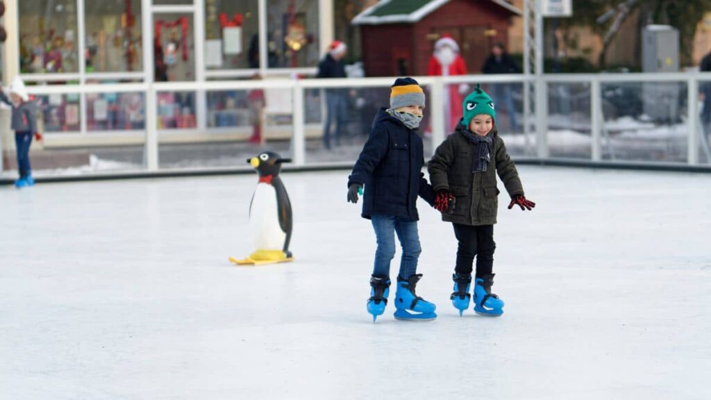
[{"label": "leftmost upper storefront window pane, with colourful items along its bottom", "polygon": [[21,73],[77,73],[75,0],[18,1]]}]

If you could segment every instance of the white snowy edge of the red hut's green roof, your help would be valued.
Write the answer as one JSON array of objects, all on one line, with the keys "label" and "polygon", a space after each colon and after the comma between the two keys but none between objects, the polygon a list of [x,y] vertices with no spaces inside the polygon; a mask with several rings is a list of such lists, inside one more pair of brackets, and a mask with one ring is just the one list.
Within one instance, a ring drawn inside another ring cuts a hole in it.
[{"label": "white snowy edge of the red hut's green roof", "polygon": [[[381,0],[355,16],[354,25],[382,23],[415,23],[449,3],[450,0]],[[516,15],[523,15],[520,9],[504,0],[488,0]]]}]

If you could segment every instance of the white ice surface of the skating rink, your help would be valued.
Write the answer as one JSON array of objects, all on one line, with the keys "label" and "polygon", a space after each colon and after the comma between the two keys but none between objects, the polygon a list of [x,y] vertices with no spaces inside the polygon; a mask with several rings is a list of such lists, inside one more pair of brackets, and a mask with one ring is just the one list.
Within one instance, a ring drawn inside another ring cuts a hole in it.
[{"label": "white ice surface of the skating rink", "polygon": [[419,323],[365,312],[348,172],[282,175],[296,261],[257,268],[227,261],[256,174],[0,187],[0,398],[708,399],[711,176],[519,172],[500,318],[451,306],[454,233],[419,201]]}]

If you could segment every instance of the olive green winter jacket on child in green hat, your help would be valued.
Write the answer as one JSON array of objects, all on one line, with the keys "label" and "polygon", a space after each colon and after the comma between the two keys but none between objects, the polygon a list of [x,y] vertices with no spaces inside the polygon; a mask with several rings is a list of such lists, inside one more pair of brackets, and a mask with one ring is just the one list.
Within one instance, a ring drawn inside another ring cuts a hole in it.
[{"label": "olive green winter jacket on child in green hat", "polygon": [[523,195],[523,186],[513,161],[508,157],[506,145],[496,131],[492,138],[493,156],[486,172],[471,172],[476,145],[461,130],[464,127],[457,125],[455,132],[437,147],[434,157],[427,163],[429,181],[435,192],[449,189],[456,196],[454,212],[443,213],[442,221],[491,225],[496,223],[498,209],[496,174],[511,197]]}]

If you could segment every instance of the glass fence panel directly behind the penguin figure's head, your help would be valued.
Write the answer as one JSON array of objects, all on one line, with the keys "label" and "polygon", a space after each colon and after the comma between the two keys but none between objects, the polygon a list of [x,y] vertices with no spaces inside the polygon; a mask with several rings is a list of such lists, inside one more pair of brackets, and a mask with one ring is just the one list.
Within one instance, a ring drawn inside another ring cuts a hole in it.
[{"label": "glass fence panel directly behind the penguin figure's head", "polygon": [[[205,95],[206,129],[195,129],[193,119],[180,127],[159,131],[159,167],[249,167],[246,160],[265,150],[292,157],[291,89],[210,90],[190,94]],[[177,95],[159,93],[159,98],[166,99],[164,113],[171,115],[177,107],[187,107],[187,113],[194,114],[194,105],[189,102],[178,105],[177,100],[168,100],[177,99]],[[187,99],[186,93],[182,95]],[[159,100],[159,115],[160,107]]]}]

